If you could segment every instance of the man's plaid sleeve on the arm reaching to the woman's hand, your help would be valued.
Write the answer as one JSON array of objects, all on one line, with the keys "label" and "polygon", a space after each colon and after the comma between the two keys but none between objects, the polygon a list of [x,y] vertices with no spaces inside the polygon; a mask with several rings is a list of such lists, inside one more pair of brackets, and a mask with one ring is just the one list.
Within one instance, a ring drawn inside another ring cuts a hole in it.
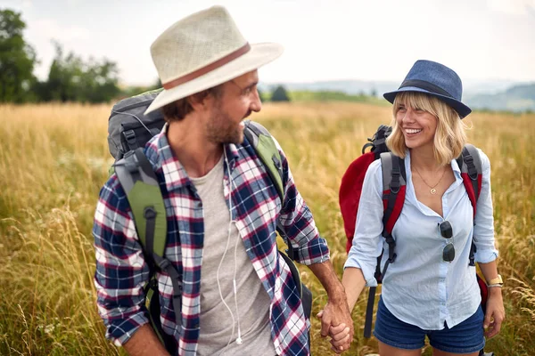
[{"label": "man's plaid sleeve on the arm reaching to the woman's hand", "polygon": [[284,151],[276,142],[283,164],[284,202],[277,227],[284,239],[292,244],[295,261],[302,264],[324,263],[328,261],[327,241],[319,236],[316,223],[309,206],[300,196],[293,182],[292,172]]}]

